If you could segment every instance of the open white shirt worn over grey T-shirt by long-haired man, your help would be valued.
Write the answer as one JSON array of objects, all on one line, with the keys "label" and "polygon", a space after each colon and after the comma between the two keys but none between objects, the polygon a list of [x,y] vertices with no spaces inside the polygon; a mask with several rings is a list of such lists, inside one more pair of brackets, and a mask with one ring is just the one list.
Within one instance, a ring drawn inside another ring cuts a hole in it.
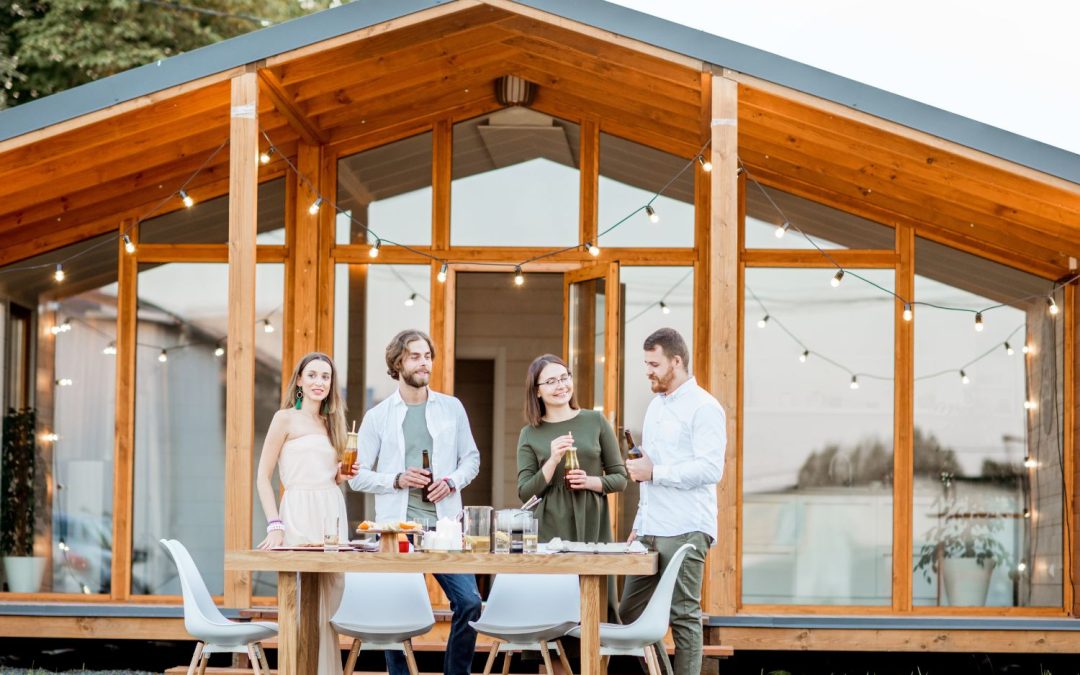
[{"label": "open white shirt worn over grey T-shirt by long-haired man", "polygon": [[[405,471],[405,432],[402,423],[408,405],[401,392],[386,397],[367,411],[357,437],[360,472],[349,480],[357,491],[375,495],[375,519],[404,521],[408,512],[408,489],[394,487],[394,477]],[[449,478],[455,490],[435,504],[441,518],[461,512],[461,490],[480,471],[480,450],[472,437],[469,416],[454,396],[428,390],[424,407],[431,433],[431,474],[434,480]]]}]

